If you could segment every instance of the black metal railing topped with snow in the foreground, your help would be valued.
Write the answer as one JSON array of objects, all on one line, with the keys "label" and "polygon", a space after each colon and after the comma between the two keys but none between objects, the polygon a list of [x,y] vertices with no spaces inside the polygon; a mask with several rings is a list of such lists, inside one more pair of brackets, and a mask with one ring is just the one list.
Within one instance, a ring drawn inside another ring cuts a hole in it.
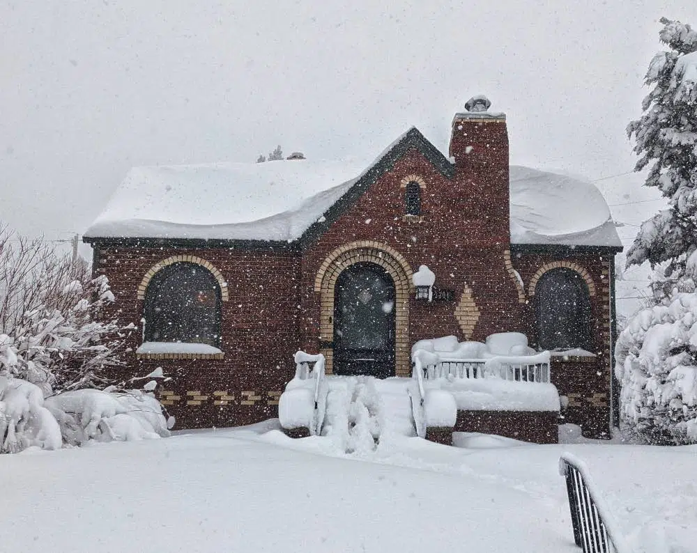
[{"label": "black metal railing topped with snow in the foreground", "polygon": [[630,553],[585,463],[562,453],[559,473],[566,478],[574,541],[583,553]]}]

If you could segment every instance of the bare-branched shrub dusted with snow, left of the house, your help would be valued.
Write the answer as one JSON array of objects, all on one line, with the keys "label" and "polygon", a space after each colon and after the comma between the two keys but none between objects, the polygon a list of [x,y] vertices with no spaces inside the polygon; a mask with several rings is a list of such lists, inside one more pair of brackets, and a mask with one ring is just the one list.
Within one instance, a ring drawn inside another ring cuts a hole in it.
[{"label": "bare-branched shrub dusted with snow, left of the house", "polygon": [[121,364],[133,329],[98,318],[113,301],[107,278],[93,278],[84,259],[0,229],[0,373],[45,395],[110,384],[102,369]]}]

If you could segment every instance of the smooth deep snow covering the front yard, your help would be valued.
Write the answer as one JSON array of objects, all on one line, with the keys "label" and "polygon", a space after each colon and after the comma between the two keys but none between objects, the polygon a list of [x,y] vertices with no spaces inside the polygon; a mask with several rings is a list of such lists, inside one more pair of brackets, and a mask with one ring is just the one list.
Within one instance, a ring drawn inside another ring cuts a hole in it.
[{"label": "smooth deep snow covering the front yard", "polygon": [[636,552],[697,551],[697,446],[461,434],[458,448],[402,438],[337,457],[275,428],[3,455],[1,549],[576,552],[557,462],[570,451]]}]

